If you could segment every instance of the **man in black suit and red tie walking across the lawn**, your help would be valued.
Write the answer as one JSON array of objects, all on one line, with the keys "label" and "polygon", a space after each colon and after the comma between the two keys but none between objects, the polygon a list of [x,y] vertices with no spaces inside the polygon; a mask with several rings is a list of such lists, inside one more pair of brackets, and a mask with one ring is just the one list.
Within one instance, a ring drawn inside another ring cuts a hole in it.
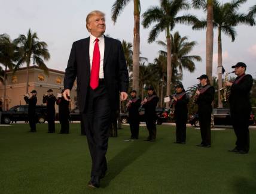
[{"label": "man in black suit and red tie walking across the lawn", "polygon": [[[99,187],[105,176],[108,129],[111,111],[119,109],[119,100],[127,99],[129,77],[119,40],[103,35],[105,14],[92,11],[86,27],[90,37],[73,43],[65,72],[63,96],[69,100],[77,77],[77,98],[92,157],[90,187]],[[120,92],[120,95],[119,95]]]}]

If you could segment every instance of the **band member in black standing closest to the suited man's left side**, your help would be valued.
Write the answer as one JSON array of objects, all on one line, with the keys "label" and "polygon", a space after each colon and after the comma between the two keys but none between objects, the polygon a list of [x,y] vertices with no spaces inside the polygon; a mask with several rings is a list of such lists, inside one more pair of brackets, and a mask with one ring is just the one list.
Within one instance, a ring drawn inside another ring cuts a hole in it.
[{"label": "band member in black standing closest to the suited man's left side", "polygon": [[[64,90],[62,90],[62,93]],[[59,105],[59,121],[60,121],[60,134],[69,133],[69,101],[64,97],[57,98],[56,104]]]}]

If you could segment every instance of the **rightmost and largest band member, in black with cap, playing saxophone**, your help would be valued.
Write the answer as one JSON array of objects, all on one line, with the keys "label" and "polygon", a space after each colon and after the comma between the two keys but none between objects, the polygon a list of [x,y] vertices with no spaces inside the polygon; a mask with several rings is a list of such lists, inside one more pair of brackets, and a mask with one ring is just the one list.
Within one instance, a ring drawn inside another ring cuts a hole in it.
[{"label": "rightmost and largest band member, in black with cap, playing saxophone", "polygon": [[231,122],[236,134],[236,147],[231,152],[247,154],[249,151],[249,117],[251,114],[250,91],[252,88],[252,76],[245,74],[246,64],[237,62],[233,65],[237,75],[234,82],[226,82],[230,87],[230,115]]}]

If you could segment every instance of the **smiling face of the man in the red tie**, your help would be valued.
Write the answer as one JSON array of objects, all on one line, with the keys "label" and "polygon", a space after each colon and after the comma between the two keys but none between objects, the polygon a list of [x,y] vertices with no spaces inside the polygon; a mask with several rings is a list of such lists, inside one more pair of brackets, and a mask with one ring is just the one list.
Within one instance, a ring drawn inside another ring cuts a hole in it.
[{"label": "smiling face of the man in the red tie", "polygon": [[102,36],[106,30],[105,17],[103,15],[93,15],[90,17],[87,27],[93,36]]}]

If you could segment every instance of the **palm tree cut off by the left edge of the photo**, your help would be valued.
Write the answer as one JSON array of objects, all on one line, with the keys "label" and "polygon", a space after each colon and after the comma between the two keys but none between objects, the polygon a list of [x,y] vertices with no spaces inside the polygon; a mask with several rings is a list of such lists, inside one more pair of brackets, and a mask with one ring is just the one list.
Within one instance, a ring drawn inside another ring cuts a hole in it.
[{"label": "palm tree cut off by the left edge of the photo", "polygon": [[[7,70],[13,70],[17,60],[16,45],[11,42],[10,36],[7,34],[0,35],[0,64],[4,65],[4,70],[1,67],[1,82],[4,84],[4,96],[3,96],[3,109],[5,110],[5,98],[6,98],[6,80]],[[3,72],[4,71],[4,72]]]}]

